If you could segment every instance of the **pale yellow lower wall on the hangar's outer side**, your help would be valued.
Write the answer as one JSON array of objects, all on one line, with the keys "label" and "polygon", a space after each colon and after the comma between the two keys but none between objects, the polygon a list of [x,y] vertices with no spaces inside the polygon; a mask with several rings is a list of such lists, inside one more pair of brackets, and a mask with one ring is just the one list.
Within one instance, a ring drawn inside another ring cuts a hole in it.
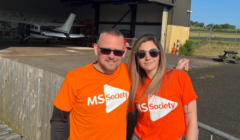
[{"label": "pale yellow lower wall on the hangar's outer side", "polygon": [[177,40],[180,41],[180,44],[184,44],[189,39],[189,30],[190,27],[168,25],[165,53],[172,52],[174,43],[177,45]]}]

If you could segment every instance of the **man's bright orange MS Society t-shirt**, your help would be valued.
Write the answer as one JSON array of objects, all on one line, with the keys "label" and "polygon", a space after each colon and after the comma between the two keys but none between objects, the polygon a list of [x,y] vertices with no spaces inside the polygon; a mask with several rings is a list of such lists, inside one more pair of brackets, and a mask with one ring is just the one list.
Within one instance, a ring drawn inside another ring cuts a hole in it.
[{"label": "man's bright orange MS Society t-shirt", "polygon": [[69,72],[53,104],[70,112],[69,140],[125,140],[131,80],[126,64],[106,75],[93,64]]}]

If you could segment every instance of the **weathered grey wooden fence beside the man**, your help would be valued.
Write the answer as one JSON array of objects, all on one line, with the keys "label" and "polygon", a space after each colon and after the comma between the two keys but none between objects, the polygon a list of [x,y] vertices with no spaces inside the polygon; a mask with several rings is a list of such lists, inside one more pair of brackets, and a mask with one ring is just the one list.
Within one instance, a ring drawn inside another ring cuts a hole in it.
[{"label": "weathered grey wooden fence beside the man", "polygon": [[29,140],[50,140],[53,100],[64,78],[0,57],[0,120]]}]

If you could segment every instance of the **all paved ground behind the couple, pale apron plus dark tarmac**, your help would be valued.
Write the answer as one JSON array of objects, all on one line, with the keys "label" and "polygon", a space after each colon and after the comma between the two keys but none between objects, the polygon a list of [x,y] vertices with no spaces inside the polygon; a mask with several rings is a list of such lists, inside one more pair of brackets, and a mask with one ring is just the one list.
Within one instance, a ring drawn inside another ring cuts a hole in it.
[{"label": "all paved ground behind the couple, pale apron plus dark tarmac", "polygon": [[[128,50],[123,62],[127,62]],[[72,42],[0,40],[0,57],[16,60],[65,76],[69,71],[95,62],[91,47],[76,47]],[[197,58],[166,54],[167,67],[173,68],[181,58],[190,59],[187,72],[198,95],[198,121],[240,138],[240,64],[223,64],[217,58]],[[200,130],[200,139],[210,134]],[[221,139],[214,137],[214,140]]]}]

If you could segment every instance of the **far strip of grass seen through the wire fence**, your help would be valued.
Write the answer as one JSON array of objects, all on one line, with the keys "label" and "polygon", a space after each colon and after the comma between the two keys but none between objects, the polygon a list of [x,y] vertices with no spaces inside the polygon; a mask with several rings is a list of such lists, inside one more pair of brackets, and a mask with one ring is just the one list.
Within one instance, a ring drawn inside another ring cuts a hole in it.
[{"label": "far strip of grass seen through the wire fence", "polygon": [[[212,32],[212,37],[213,34],[215,37],[218,38],[235,38],[236,33],[229,33],[229,32]],[[209,31],[200,31],[200,37],[208,37],[209,36]],[[199,32],[198,31],[190,31],[189,37],[199,37]],[[240,38],[240,31],[237,34],[237,38]]]}]

